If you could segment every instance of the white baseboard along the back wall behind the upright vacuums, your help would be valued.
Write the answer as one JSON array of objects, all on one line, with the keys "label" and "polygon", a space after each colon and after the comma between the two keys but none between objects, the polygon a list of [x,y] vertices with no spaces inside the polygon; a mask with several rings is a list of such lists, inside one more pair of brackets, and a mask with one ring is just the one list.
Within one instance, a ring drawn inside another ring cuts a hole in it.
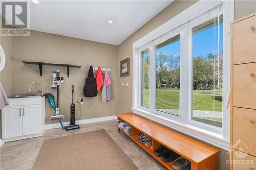
[{"label": "white baseboard along the back wall behind the upright vacuums", "polygon": [[[78,124],[78,125],[90,124],[90,123],[102,122],[102,121],[106,121],[106,120],[114,120],[116,118],[117,118],[116,116],[106,116],[106,117],[82,119],[82,120],[76,120],[76,124]],[[69,122],[63,122],[62,124],[63,124],[63,126],[68,126]],[[47,129],[55,129],[55,128],[61,128],[60,124],[56,123],[56,124],[46,125],[46,130]]]}]

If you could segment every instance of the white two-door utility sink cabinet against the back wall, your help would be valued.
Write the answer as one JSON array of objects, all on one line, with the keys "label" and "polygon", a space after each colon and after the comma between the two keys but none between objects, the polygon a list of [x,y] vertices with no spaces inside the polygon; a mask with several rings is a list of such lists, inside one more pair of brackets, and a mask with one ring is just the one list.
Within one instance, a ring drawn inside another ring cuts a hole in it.
[{"label": "white two-door utility sink cabinet against the back wall", "polygon": [[10,105],[2,109],[2,139],[13,141],[42,136],[45,131],[45,98],[9,101]]}]

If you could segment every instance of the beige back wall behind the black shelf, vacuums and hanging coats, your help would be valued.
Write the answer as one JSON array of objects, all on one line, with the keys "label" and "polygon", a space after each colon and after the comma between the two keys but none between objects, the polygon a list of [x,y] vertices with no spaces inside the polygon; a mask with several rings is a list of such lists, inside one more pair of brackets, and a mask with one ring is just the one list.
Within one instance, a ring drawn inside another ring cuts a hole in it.
[{"label": "beige back wall behind the black shelf, vacuums and hanging coats", "polygon": [[[66,67],[42,66],[42,77],[40,77],[38,65],[24,64],[22,61],[75,64],[81,65],[81,68],[70,68],[70,77],[68,78]],[[75,98],[84,99],[81,119],[115,115],[118,109],[118,64],[116,61],[117,46],[115,45],[32,31],[30,36],[13,37],[13,93],[26,93],[34,80],[42,80],[44,92],[52,93],[56,98],[56,89],[51,89],[50,86],[52,72],[57,69],[61,70],[61,76],[64,77],[61,87],[71,94],[71,86],[74,85]],[[102,103],[100,94],[95,98],[84,98],[84,79],[87,78],[90,65],[112,68],[110,77],[113,100]],[[39,84],[38,82],[37,86],[33,86],[32,92],[39,90]],[[64,115],[63,122],[69,121],[70,104],[71,98],[60,92],[59,108],[60,113]],[[52,114],[53,110],[46,102],[46,124],[57,122],[50,121]],[[76,114],[78,117],[78,107],[76,107]]]}]

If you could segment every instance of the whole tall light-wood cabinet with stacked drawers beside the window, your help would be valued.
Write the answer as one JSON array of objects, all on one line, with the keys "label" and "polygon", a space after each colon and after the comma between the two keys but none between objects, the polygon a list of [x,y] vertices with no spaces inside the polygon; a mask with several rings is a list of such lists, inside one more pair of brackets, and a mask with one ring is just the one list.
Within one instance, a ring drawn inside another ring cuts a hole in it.
[{"label": "whole tall light-wood cabinet with stacked drawers beside the window", "polygon": [[230,160],[256,170],[256,13],[231,23]]}]

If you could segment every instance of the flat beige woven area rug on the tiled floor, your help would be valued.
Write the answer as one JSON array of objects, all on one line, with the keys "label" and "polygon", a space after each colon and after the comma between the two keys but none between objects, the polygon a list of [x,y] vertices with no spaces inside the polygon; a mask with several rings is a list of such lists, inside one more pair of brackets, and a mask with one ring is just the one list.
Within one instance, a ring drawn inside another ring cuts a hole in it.
[{"label": "flat beige woven area rug on the tiled floor", "polygon": [[46,139],[32,169],[138,169],[105,130]]}]

